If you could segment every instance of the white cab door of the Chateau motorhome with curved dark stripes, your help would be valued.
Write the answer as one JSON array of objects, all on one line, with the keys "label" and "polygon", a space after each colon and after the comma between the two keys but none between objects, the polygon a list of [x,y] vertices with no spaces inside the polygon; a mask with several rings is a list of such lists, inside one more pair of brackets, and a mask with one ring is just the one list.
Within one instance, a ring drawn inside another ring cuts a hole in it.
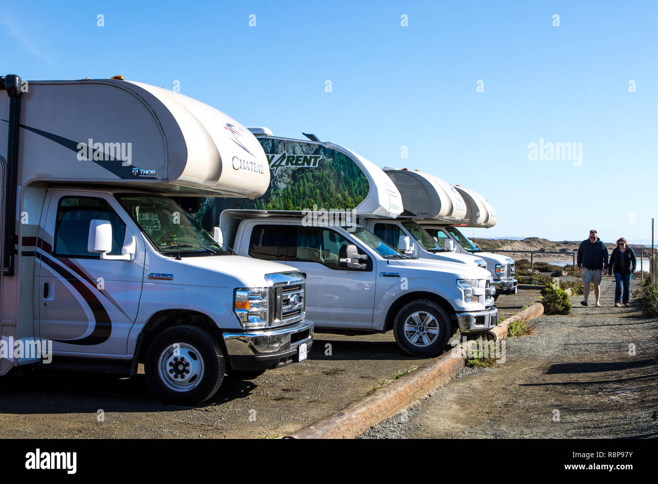
[{"label": "white cab door of the Chateau motorhome with curved dark stripes", "polygon": [[[112,227],[112,250],[137,242],[133,260],[103,260],[88,252],[92,220]],[[53,190],[41,229],[36,300],[39,335],[55,354],[125,358],[141,296],[145,247],[130,217],[111,194]]]}]

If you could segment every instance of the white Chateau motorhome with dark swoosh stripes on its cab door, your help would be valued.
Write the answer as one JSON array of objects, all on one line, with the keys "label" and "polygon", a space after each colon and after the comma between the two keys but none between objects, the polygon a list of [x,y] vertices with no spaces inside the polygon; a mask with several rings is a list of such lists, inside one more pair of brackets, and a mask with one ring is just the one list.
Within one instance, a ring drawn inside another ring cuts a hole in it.
[{"label": "white Chateau motorhome with dark swoosh stripes on its cab door", "polygon": [[[177,203],[268,189],[248,130],[114,78],[10,75],[0,90],[0,374],[35,363],[135,375],[144,363],[159,398],[194,404],[226,371],[306,358],[299,271],[234,255]],[[44,345],[49,364],[24,350]]]}]

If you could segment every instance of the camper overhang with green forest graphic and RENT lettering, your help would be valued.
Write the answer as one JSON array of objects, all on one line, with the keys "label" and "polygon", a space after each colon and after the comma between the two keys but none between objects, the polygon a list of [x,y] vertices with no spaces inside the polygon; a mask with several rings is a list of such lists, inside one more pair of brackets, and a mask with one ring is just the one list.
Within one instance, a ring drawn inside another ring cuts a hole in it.
[{"label": "camper overhang with green forest graphic and RENT lettering", "polygon": [[[255,200],[204,198],[195,215],[217,225],[226,209],[305,211],[340,209],[383,217],[401,213],[395,185],[367,159],[332,143],[261,135],[253,129],[270,167],[270,186]],[[384,176],[382,176],[384,175]]]}]

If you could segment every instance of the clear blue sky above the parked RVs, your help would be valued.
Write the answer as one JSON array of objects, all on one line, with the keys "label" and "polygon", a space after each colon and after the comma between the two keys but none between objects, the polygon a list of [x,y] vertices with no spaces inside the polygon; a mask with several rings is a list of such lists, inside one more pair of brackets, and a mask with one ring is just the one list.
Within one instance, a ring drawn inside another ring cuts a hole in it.
[{"label": "clear blue sky above the parked RVs", "polygon": [[[657,23],[651,1],[24,1],[3,5],[0,64],[180,81],[246,126],[477,190],[499,221],[475,236],[633,243],[658,217]],[[528,159],[540,139],[582,164]]]}]

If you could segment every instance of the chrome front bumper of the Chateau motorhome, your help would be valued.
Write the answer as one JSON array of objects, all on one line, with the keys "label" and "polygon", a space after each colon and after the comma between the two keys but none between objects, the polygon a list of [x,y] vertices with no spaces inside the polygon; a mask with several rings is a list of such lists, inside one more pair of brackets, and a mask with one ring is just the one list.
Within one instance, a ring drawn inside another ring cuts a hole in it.
[{"label": "chrome front bumper of the Chateau motorhome", "polygon": [[313,345],[313,322],[299,321],[293,325],[224,333],[228,361],[234,370],[273,369],[299,361],[299,345]]}]

